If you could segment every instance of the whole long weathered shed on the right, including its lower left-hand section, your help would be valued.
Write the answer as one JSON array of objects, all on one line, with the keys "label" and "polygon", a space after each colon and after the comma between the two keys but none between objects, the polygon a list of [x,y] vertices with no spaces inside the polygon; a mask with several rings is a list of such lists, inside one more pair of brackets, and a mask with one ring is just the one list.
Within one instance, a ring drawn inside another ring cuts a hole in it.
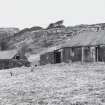
[{"label": "whole long weathered shed on the right, including its lower left-hand section", "polygon": [[105,31],[82,32],[40,55],[40,64],[105,61]]}]

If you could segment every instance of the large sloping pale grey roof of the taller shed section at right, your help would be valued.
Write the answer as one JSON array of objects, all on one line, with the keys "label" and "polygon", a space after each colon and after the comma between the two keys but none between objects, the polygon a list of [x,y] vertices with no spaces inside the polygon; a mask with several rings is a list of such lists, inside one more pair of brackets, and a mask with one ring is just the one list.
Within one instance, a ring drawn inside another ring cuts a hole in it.
[{"label": "large sloping pale grey roof of the taller shed section at right", "polygon": [[83,32],[61,45],[62,47],[105,45],[105,31]]}]

